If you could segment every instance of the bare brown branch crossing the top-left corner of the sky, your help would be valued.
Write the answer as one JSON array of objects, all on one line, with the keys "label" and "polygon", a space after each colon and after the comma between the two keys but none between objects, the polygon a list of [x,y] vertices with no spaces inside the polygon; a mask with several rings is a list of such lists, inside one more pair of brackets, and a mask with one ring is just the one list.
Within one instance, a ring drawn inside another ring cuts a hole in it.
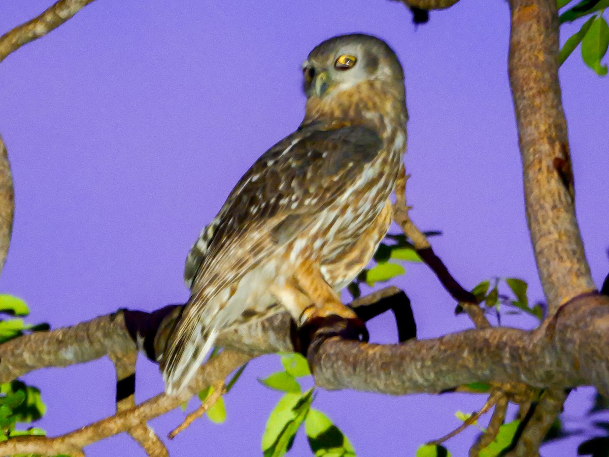
[{"label": "bare brown branch crossing the top-left corner of the sky", "polygon": [[41,15],[0,37],[0,62],[24,44],[44,37],[94,0],[60,0]]}]

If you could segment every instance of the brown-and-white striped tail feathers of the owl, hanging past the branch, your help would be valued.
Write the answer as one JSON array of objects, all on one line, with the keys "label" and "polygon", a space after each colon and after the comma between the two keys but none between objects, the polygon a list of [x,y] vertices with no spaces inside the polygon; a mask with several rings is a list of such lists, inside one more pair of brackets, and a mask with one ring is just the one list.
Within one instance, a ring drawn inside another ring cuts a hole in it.
[{"label": "brown-and-white striped tail feathers of the owl, hanging past the branch", "polygon": [[204,325],[204,319],[188,313],[182,316],[169,338],[161,357],[160,366],[165,381],[165,391],[177,395],[191,382],[203,359],[211,351],[218,330]]}]

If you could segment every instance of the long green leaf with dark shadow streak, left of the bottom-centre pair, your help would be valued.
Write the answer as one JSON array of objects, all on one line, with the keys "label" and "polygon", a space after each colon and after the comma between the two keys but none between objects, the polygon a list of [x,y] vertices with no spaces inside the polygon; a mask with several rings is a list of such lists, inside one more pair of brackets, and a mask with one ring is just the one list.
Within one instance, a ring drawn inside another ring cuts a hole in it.
[{"label": "long green leaf with dark shadow streak, left of the bottom-centre pair", "polygon": [[269,415],[262,434],[264,457],[281,457],[292,447],[294,437],[311,408],[313,389],[303,395],[285,394]]}]

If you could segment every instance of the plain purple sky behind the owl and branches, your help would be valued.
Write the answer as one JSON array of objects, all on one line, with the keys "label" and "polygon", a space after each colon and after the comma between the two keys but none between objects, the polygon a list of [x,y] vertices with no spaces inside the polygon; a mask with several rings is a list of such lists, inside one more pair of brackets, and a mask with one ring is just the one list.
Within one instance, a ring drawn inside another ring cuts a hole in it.
[{"label": "plain purple sky behind the owl and branches", "polygon": [[[2,2],[0,33],[50,4]],[[418,29],[403,5],[386,0],[94,2],[0,65],[0,133],[16,194],[0,291],[26,299],[31,321],[54,328],[121,307],[185,301],[182,268],[195,237],[250,164],[300,123],[301,61],[315,44],[347,32],[384,38],[406,69],[408,197],[421,228],[444,232],[432,240],[437,253],[466,287],[518,276],[529,281],[532,301],[543,299],[507,81],[509,11],[486,0],[433,12]],[[609,83],[585,68],[579,49],[560,76],[580,228],[600,285],[609,271]],[[470,326],[453,315],[454,302],[425,267],[406,268],[398,285],[412,299],[420,338]],[[374,341],[396,339],[390,316],[369,328]],[[256,378],[279,368],[276,356],[250,364],[226,398],[227,422],[198,420],[169,443],[171,455],[260,455],[279,394]],[[43,391],[40,427],[50,434],[113,413],[107,359],[26,380]],[[138,401],[161,389],[157,366],[141,360]],[[569,397],[569,426],[581,424],[592,393],[580,388]],[[459,425],[456,410],[484,401],[324,391],[314,406],[359,456],[412,456]],[[166,436],[182,417],[173,411],[152,426]],[[449,441],[452,455],[465,455],[474,436],[472,429]],[[550,445],[546,455],[572,456],[576,445]],[[124,435],[86,452],[144,455]],[[303,434],[290,455],[311,455]]]}]

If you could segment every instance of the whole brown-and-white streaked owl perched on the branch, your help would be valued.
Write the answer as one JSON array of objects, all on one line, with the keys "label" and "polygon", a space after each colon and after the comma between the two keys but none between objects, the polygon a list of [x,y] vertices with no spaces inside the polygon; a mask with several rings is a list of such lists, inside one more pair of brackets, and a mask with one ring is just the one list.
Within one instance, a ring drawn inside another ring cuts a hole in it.
[{"label": "whole brown-and-white streaked owl perched on the branch", "polygon": [[228,195],[186,260],[191,297],[160,366],[188,385],[220,330],[287,310],[297,326],[356,319],[339,291],[392,221],[406,149],[404,73],[370,35],[330,38],[302,66],[305,117]]}]

